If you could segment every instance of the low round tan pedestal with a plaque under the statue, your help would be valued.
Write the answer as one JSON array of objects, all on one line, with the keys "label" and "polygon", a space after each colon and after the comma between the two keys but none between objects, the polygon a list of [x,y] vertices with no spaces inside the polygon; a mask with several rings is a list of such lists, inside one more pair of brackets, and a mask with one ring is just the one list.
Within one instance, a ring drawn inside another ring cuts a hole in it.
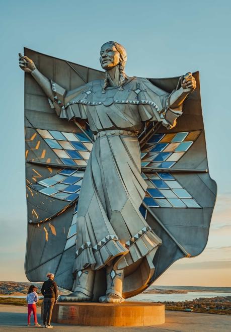
[{"label": "low round tan pedestal with a plaque under the statue", "polygon": [[147,326],[165,322],[165,305],[152,302],[58,302],[52,322],[86,326]]}]

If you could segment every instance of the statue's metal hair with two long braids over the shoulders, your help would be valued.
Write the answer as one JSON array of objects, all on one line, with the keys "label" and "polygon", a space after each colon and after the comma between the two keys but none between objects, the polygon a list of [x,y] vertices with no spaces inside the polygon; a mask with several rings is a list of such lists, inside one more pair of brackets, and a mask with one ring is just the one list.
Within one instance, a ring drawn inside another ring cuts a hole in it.
[{"label": "statue's metal hair with two long braids over the shoulders", "polygon": [[[124,67],[125,67],[125,64],[126,64],[126,61],[127,61],[127,52],[126,52],[125,48],[119,43],[116,43],[116,42],[113,42],[113,41],[109,41],[107,43],[114,45],[116,50],[120,54],[120,58],[119,58],[119,73],[120,73],[120,75],[119,75],[119,91],[122,91],[122,90],[124,90],[122,85],[125,82]],[[105,89],[107,88],[108,83],[109,83],[108,73],[107,73],[107,70],[106,70],[105,71],[104,86],[103,86],[102,91],[101,91],[102,94],[105,94]]]}]

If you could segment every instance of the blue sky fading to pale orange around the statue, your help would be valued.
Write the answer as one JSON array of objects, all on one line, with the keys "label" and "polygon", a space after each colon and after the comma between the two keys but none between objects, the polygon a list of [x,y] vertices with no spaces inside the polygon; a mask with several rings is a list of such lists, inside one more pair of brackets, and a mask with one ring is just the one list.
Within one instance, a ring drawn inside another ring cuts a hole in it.
[{"label": "blue sky fading to pale orange around the statue", "polygon": [[224,0],[1,1],[0,280],[26,280],[24,75],[18,67],[18,53],[26,46],[100,69],[101,45],[115,40],[127,49],[129,76],[170,77],[200,70],[209,169],[218,185],[217,204],[204,253],[175,263],[157,283],[228,286],[230,14],[231,3]]}]

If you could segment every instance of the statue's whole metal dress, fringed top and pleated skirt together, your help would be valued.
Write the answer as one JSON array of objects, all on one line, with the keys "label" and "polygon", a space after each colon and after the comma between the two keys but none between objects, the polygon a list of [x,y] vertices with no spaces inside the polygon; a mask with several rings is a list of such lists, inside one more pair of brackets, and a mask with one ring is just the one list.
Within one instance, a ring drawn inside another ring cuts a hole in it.
[{"label": "statue's whole metal dress, fringed top and pleated skirt together", "polygon": [[67,93],[51,82],[59,117],[87,119],[96,134],[80,191],[73,272],[98,270],[111,260],[115,270],[131,271],[130,265],[147,255],[152,262],[162,242],[139,211],[147,185],[137,135],[143,122],[163,121],[160,114],[168,111],[176,112],[175,120],[181,111],[171,111],[169,94],[145,78],[132,77],[123,91],[108,88],[105,94],[103,84],[95,80]]}]

